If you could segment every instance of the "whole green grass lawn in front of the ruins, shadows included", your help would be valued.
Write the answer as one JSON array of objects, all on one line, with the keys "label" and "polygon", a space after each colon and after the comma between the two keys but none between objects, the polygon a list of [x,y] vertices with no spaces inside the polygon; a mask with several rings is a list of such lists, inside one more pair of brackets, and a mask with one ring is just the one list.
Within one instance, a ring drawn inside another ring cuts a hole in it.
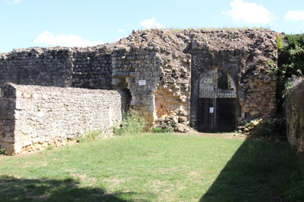
[{"label": "whole green grass lawn in front of the ruins, shadows included", "polygon": [[281,201],[292,175],[287,143],[144,133],[0,156],[0,201]]}]

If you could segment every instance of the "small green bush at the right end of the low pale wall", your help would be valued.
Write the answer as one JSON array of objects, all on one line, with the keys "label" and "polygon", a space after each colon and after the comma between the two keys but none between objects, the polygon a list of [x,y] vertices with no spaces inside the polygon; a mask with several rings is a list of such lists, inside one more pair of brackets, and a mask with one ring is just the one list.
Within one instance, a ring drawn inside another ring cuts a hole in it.
[{"label": "small green bush at the right end of the low pale wall", "polygon": [[123,113],[123,120],[119,126],[113,126],[112,131],[114,135],[123,135],[125,133],[141,133],[145,128],[147,122],[145,119],[131,111],[130,113]]}]

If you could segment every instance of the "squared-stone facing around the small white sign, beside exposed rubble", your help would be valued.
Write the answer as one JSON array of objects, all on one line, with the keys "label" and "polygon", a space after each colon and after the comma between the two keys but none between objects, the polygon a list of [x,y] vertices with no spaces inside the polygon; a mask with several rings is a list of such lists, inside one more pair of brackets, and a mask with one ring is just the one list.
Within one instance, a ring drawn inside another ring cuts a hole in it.
[{"label": "squared-stone facing around the small white sign, beside exposed rubble", "polygon": [[[161,60],[154,47],[132,47],[114,49],[112,54],[112,85],[117,89],[130,91],[131,108],[154,124],[156,118],[155,91],[161,76]],[[140,80],[142,83],[140,83]]]}]

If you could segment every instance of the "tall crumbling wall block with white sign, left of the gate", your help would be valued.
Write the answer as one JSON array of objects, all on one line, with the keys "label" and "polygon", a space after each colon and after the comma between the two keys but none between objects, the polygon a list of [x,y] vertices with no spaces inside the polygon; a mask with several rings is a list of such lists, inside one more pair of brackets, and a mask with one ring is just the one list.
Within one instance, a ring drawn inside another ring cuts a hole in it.
[{"label": "tall crumbling wall block with white sign, left of the gate", "polygon": [[134,32],[116,43],[112,83],[130,89],[131,107],[148,120],[147,128],[164,121],[189,124],[191,56],[181,43],[168,30]]}]

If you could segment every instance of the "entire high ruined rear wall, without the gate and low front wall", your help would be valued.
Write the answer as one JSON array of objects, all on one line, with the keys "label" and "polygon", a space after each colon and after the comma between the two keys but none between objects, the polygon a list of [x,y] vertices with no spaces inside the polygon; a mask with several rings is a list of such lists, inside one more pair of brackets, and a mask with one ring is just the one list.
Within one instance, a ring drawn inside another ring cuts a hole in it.
[{"label": "entire high ruined rear wall, without the gate and low front wall", "polygon": [[0,84],[114,88],[125,97],[123,109],[138,111],[147,128],[164,121],[195,126],[196,84],[219,67],[235,81],[238,120],[267,117],[276,111],[276,77],[269,71],[276,66],[276,36],[270,30],[145,30],[111,45],[19,49],[0,55]]}]

